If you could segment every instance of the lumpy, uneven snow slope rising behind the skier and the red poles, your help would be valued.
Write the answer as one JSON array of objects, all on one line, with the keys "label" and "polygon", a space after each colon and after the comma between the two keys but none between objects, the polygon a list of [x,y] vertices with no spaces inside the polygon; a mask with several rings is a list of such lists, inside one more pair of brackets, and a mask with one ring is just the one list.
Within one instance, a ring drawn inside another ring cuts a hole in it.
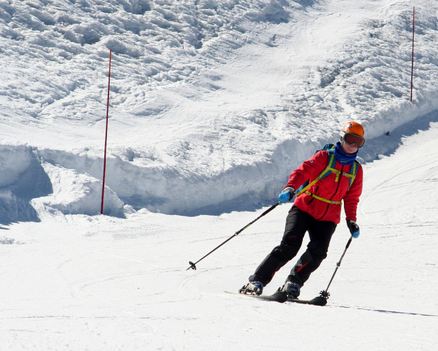
[{"label": "lumpy, uneven snow slope rising behind the skier and the red poles", "polygon": [[[109,49],[106,185],[119,201],[107,214],[122,215],[122,202],[211,214],[242,196],[240,209],[257,208],[345,121],[372,138],[437,109],[435,1],[417,3],[413,103],[410,1],[1,4],[1,144],[24,168],[36,157],[60,168],[51,174],[71,170],[93,213],[87,183],[102,179]],[[43,205],[89,214],[63,201]]]}]

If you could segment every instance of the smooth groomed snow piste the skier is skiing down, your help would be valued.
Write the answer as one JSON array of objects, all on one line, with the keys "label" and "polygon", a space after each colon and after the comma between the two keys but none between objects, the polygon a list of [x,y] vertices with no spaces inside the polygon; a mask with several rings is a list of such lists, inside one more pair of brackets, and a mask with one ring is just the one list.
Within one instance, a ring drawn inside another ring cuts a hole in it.
[{"label": "smooth groomed snow piste the skier is skiing down", "polygon": [[[395,131],[389,138],[402,146],[365,165],[361,234],[335,275],[327,306],[222,292],[240,288],[277,245],[289,205],[242,231],[196,271],[185,271],[189,260],[264,209],[51,216],[4,228],[1,350],[435,350],[438,121],[417,128],[410,125],[409,137]],[[341,223],[303,298],[327,287],[348,238]]]}]

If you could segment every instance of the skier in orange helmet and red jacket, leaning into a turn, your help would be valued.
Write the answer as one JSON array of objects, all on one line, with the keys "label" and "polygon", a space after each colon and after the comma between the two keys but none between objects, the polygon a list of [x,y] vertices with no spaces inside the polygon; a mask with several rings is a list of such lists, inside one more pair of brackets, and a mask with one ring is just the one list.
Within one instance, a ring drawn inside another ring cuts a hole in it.
[{"label": "skier in orange helmet and red jacket, leaning into a turn", "polygon": [[[288,297],[296,299],[310,274],[327,257],[330,239],[341,220],[341,201],[344,201],[351,236],[358,238],[360,231],[356,224],[356,210],[362,193],[363,171],[356,156],[358,149],[365,144],[364,130],[357,122],[348,122],[340,135],[341,140],[336,146],[328,144],[328,150],[319,150],[290,174],[286,187],[279,194],[279,201],[286,203],[296,193],[298,196],[286,218],[284,236],[280,245],[249,277],[249,283],[240,289],[240,293],[262,294],[274,274],[297,255],[308,231],[310,242],[306,252],[279,288]],[[300,191],[300,185],[306,181],[310,182],[308,188]]]}]

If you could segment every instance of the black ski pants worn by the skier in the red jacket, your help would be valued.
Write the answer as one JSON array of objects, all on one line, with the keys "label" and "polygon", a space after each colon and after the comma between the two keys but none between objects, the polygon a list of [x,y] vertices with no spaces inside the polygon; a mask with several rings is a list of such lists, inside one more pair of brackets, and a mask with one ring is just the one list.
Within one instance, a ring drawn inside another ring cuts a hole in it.
[{"label": "black ski pants worn by the skier in the red jacket", "polygon": [[336,229],[336,224],[327,220],[316,220],[307,212],[294,206],[286,218],[286,229],[280,245],[275,247],[263,260],[255,273],[249,277],[250,282],[262,282],[266,286],[273,279],[275,273],[294,258],[303,243],[306,231],[310,242],[307,250],[297,264],[292,268],[287,281],[295,282],[299,286],[309,279],[321,262],[327,257],[330,239]]}]

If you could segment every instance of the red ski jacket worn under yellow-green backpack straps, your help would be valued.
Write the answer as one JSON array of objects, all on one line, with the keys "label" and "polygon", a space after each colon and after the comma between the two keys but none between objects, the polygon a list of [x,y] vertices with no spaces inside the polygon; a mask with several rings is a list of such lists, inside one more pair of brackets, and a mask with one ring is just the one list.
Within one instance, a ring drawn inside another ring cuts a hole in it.
[{"label": "red ski jacket worn under yellow-green backpack straps", "polygon": [[[315,155],[304,161],[297,170],[290,174],[287,187],[292,187],[297,190],[304,182],[310,180],[312,182],[319,176],[328,163],[327,150],[316,152]],[[336,160],[336,170],[341,172],[350,172],[351,166],[345,166]],[[358,207],[359,196],[362,194],[363,170],[358,164],[356,178],[351,184],[349,178],[341,175],[336,181],[336,174],[331,172],[327,177],[317,181],[308,189],[308,192],[330,201],[343,201],[346,220],[356,221],[356,210]],[[307,212],[317,220],[330,220],[338,224],[341,220],[341,204],[326,203],[314,198],[306,193],[295,198],[295,206],[301,211]]]}]

